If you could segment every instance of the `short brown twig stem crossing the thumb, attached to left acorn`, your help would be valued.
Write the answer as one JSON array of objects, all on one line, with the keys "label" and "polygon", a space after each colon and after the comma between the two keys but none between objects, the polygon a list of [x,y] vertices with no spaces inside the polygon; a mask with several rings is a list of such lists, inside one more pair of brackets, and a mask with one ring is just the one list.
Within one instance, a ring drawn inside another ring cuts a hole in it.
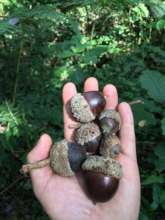
[{"label": "short brown twig stem crossing the thumb, attached to left acorn", "polygon": [[22,166],[20,172],[22,174],[26,174],[26,173],[29,173],[31,170],[43,168],[49,164],[50,164],[50,158],[45,159],[45,160],[40,160],[35,163],[28,163]]}]

